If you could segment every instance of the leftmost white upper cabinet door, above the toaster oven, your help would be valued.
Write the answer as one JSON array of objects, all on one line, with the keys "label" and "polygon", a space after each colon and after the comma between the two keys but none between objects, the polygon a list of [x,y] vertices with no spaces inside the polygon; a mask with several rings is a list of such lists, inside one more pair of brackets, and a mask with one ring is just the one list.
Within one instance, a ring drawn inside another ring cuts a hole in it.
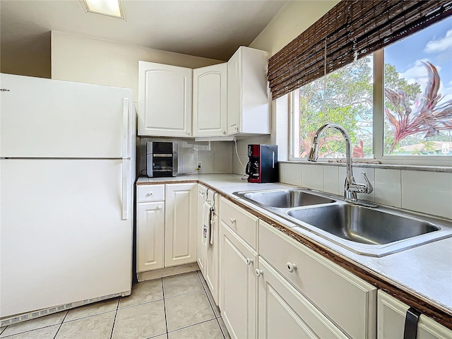
[{"label": "leftmost white upper cabinet door, above the toaster oven", "polygon": [[138,65],[138,135],[191,136],[192,70]]}]

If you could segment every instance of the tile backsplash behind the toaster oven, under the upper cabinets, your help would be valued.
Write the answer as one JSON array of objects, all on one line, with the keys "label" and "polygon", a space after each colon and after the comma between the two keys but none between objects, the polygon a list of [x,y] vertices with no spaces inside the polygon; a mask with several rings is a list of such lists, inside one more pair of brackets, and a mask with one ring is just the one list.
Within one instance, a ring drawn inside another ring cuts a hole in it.
[{"label": "tile backsplash behind the toaster oven, under the upper cabinets", "polygon": [[138,143],[139,173],[146,174],[146,142],[176,141],[179,149],[179,173],[194,172],[198,160],[201,160],[200,173],[232,173],[232,150],[234,143],[230,141],[194,141],[194,139],[178,138],[140,138]]}]

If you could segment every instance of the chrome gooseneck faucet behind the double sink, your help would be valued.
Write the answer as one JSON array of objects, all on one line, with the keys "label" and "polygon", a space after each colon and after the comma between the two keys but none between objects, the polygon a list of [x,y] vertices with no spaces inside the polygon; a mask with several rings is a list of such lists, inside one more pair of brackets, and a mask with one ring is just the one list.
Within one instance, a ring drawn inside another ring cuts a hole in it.
[{"label": "chrome gooseneck faucet behind the double sink", "polygon": [[321,133],[323,133],[323,131],[328,128],[337,129],[345,138],[345,163],[347,166],[347,177],[345,177],[344,198],[345,201],[348,201],[350,203],[357,203],[357,193],[370,194],[372,191],[374,191],[374,187],[372,187],[369,179],[367,179],[366,172],[362,172],[362,176],[364,177],[366,184],[357,184],[355,182],[355,178],[353,177],[352,172],[352,156],[350,154],[350,136],[348,135],[347,131],[345,131],[343,126],[340,126],[338,124],[325,124],[321,126],[321,128],[318,129],[314,135],[314,141],[312,142],[311,149],[309,150],[308,161],[317,161],[317,158],[319,157],[318,139],[321,136]]}]

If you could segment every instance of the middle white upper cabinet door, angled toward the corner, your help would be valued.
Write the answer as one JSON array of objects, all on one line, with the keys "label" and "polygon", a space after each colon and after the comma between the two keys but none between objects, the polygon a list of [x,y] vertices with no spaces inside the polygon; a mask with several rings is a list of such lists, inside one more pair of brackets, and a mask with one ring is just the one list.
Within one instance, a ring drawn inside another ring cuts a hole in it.
[{"label": "middle white upper cabinet door, angled toward the corner", "polygon": [[226,129],[227,64],[194,69],[194,136],[225,136]]}]

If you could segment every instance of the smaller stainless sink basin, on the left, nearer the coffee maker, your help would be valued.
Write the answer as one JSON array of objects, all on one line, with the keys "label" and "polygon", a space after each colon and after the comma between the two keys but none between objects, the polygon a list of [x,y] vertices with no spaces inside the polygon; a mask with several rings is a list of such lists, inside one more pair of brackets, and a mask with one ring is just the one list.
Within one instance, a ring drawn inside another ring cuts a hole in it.
[{"label": "smaller stainless sink basin, on the left, nearer the coffee maker", "polygon": [[237,196],[263,206],[275,208],[292,208],[311,206],[321,203],[334,203],[335,200],[316,194],[307,193],[299,189],[284,189],[273,191],[239,192]]}]

